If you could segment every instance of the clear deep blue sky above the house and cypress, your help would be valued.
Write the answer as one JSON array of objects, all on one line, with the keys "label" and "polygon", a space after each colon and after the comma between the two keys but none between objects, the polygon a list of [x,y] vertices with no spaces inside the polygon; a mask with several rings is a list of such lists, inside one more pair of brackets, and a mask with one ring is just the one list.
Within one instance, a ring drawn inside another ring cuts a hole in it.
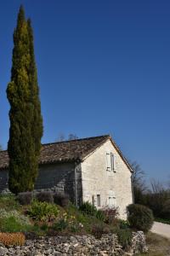
[{"label": "clear deep blue sky above the house and cypress", "polygon": [[170,1],[0,1],[0,143],[8,142],[13,32],[35,37],[44,136],[110,133],[147,178],[170,175]]}]

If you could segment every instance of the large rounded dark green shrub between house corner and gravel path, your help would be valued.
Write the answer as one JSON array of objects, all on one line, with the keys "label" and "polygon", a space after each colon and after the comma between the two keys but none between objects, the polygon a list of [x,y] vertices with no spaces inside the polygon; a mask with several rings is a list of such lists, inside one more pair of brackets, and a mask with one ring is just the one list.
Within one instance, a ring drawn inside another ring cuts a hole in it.
[{"label": "large rounded dark green shrub between house corner and gravel path", "polygon": [[154,222],[150,208],[135,204],[127,207],[127,219],[132,228],[144,232],[148,232]]}]

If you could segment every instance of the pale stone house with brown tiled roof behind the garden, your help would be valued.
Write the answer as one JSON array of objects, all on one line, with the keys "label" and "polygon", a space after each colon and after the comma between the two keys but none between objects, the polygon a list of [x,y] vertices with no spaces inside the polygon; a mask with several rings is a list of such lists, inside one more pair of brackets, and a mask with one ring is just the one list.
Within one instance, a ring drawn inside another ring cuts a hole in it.
[{"label": "pale stone house with brown tiled roof behind the garden", "polygon": [[[42,145],[35,189],[65,191],[77,206],[126,207],[133,202],[132,167],[108,135]],[[8,189],[8,152],[0,152],[0,191]]]}]

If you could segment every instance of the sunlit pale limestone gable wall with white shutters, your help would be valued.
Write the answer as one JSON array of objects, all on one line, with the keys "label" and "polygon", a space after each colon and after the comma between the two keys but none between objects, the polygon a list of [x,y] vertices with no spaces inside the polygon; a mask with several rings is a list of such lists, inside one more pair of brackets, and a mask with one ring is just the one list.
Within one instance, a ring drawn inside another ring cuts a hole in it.
[{"label": "sunlit pale limestone gable wall with white shutters", "polygon": [[[115,172],[107,170],[107,153],[116,155]],[[126,207],[133,202],[132,173],[110,140],[82,162],[82,200],[94,202],[100,195],[101,207],[113,203],[119,207],[120,218],[127,218]]]}]

